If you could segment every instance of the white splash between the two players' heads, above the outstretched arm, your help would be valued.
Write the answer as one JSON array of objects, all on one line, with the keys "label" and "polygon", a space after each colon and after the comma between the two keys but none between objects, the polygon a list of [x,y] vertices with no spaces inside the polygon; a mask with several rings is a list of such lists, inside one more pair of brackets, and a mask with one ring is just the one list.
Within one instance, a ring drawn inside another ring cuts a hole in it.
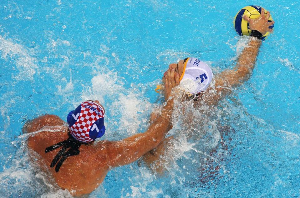
[{"label": "white splash between the two players' heads, above the outstretched arm", "polygon": [[[116,128],[118,137],[125,138],[135,134],[140,124],[147,121],[144,113],[150,108],[150,103],[139,99],[143,94],[134,88],[125,89],[116,71],[102,69],[91,82],[92,86],[85,86],[81,98],[97,99],[104,105],[105,111],[111,115],[106,121],[110,126],[108,132]],[[107,134],[112,137],[115,133]]]}]

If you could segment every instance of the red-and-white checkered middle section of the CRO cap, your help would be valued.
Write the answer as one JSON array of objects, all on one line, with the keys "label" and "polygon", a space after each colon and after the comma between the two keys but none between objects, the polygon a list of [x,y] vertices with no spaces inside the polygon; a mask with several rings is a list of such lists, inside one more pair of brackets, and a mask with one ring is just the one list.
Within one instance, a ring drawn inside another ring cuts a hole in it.
[{"label": "red-and-white checkered middle section of the CRO cap", "polygon": [[80,142],[94,141],[89,137],[89,131],[94,122],[100,118],[104,118],[104,112],[97,103],[92,101],[82,102],[79,117],[69,127],[70,134]]}]

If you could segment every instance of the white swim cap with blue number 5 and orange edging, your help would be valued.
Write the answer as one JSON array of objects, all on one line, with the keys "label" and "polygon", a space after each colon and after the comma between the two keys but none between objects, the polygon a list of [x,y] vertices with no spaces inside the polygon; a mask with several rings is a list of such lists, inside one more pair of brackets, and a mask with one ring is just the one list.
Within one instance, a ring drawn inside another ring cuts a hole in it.
[{"label": "white swim cap with blue number 5 and orange edging", "polygon": [[[186,90],[189,93],[199,94],[208,87],[212,77],[211,68],[206,63],[197,58],[187,58],[179,81],[180,84],[187,85]],[[194,85],[188,79],[193,80]]]}]

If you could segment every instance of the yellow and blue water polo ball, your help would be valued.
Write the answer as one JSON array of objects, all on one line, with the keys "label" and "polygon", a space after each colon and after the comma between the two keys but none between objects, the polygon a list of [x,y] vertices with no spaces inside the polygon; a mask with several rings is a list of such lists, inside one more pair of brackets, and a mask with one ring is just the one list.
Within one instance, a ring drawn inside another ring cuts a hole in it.
[{"label": "yellow and blue water polo ball", "polygon": [[[234,27],[236,29],[236,32],[240,35],[246,35],[249,36],[251,33],[251,30],[249,28],[249,23],[243,19],[243,15],[246,15],[247,17],[251,19],[256,19],[260,16],[262,12],[262,7],[260,6],[246,6],[243,7],[239,12],[237,12],[236,16],[234,17]],[[267,10],[265,9],[265,15],[267,14]],[[273,21],[272,16],[270,15],[269,22]],[[274,25],[270,26],[269,28],[273,28]],[[267,32],[265,35],[262,36],[264,39],[266,36],[269,35],[269,32]]]}]

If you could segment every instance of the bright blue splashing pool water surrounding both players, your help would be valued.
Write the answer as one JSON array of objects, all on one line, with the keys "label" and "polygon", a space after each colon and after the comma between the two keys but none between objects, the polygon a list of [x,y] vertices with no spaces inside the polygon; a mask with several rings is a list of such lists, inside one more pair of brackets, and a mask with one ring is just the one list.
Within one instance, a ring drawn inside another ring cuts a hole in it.
[{"label": "bright blue splashing pool water surrounding both players", "polygon": [[[234,67],[247,41],[232,20],[253,4],[269,10],[276,23],[250,80],[211,107],[209,118],[187,106],[197,133],[175,112],[170,134],[177,142],[170,152],[176,157],[165,176],[135,162],[110,171],[90,197],[299,197],[294,0],[0,2],[1,197],[70,196],[28,160],[21,131],[27,120],[46,113],[65,118],[82,100],[99,99],[106,110],[104,138],[144,132],[162,104],[154,89],[170,63],[195,56],[215,74]],[[231,128],[226,147],[221,125]]]}]

